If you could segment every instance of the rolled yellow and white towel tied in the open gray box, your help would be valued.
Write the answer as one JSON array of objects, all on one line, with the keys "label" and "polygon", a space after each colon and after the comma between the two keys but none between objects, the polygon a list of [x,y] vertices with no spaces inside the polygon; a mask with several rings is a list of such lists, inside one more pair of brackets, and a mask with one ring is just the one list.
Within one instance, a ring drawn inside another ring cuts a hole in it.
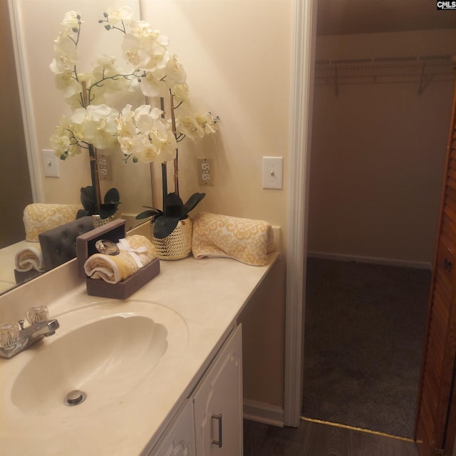
[{"label": "rolled yellow and white towel tied in the open gray box", "polygon": [[120,249],[117,255],[93,254],[88,257],[84,271],[89,277],[103,279],[108,284],[117,284],[155,258],[152,242],[140,234],[119,239],[117,245]]}]

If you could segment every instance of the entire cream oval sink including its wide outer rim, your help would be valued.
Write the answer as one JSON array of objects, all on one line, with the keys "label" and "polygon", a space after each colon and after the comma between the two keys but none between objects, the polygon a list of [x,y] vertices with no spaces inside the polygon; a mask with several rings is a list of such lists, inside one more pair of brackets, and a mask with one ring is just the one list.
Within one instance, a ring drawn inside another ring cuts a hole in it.
[{"label": "entire cream oval sink including its wide outer rim", "polygon": [[[93,415],[143,383],[153,387],[187,346],[185,322],[157,304],[107,301],[50,316],[60,323],[55,335],[0,363],[9,379],[3,393],[19,415]],[[72,390],[87,397],[68,407]]]}]

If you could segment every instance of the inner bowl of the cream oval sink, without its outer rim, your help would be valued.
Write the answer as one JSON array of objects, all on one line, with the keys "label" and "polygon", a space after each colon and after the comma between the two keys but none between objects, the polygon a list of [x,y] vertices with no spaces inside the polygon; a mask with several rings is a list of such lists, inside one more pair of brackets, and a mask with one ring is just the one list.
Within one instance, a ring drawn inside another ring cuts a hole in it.
[{"label": "inner bowl of the cream oval sink, without its outer rim", "polygon": [[38,414],[61,405],[71,390],[98,403],[112,400],[112,391],[128,393],[153,371],[166,348],[167,330],[152,318],[121,314],[91,321],[38,349],[16,378],[11,400]]}]

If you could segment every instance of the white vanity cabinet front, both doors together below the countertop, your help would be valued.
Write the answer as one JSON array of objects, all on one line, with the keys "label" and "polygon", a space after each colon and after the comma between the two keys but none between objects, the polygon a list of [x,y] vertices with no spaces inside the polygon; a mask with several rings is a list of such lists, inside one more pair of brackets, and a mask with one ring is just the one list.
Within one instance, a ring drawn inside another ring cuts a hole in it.
[{"label": "white vanity cabinet front, both doors together below the countertop", "polygon": [[242,415],[239,325],[149,456],[242,456]]}]

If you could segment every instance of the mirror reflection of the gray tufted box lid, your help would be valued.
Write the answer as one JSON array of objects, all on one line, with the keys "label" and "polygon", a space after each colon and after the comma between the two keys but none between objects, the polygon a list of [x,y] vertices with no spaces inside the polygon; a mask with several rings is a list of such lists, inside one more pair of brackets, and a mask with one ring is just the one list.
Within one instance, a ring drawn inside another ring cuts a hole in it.
[{"label": "mirror reflection of the gray tufted box lid", "polygon": [[76,258],[76,238],[93,229],[92,217],[81,217],[38,234],[46,270]]}]

